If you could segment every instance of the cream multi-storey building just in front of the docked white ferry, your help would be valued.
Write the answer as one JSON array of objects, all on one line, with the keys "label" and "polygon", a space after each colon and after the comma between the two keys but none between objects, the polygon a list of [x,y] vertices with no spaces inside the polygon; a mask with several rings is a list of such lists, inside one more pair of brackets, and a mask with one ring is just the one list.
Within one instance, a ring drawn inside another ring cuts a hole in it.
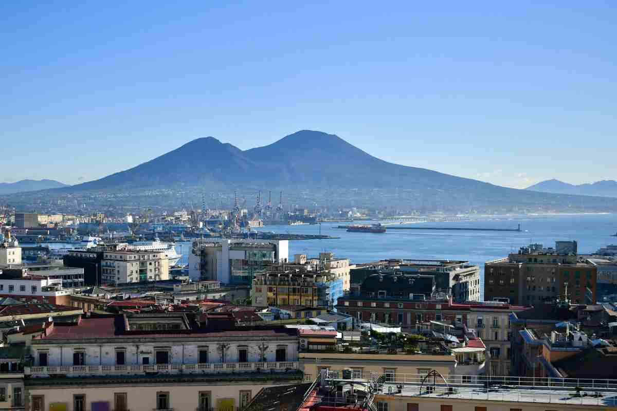
[{"label": "cream multi-storey building just in front of the docked white ferry", "polygon": [[123,284],[169,279],[165,251],[109,250],[101,261],[103,283]]}]

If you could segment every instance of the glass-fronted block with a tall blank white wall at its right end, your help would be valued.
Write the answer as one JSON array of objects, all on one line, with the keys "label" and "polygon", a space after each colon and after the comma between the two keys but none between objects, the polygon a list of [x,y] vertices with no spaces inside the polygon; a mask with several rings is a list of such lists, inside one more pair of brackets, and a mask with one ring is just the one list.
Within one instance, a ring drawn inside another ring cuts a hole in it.
[{"label": "glass-fronted block with a tall blank white wall at its right end", "polygon": [[189,252],[193,280],[218,280],[225,284],[251,285],[255,275],[272,263],[287,262],[287,240],[195,240]]}]

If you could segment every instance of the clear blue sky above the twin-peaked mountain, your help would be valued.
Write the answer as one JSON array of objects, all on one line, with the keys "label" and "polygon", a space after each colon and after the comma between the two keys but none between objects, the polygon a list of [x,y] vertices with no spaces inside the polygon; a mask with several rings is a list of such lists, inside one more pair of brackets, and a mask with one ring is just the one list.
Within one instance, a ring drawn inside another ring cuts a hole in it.
[{"label": "clear blue sky above the twin-peaked mountain", "polygon": [[617,178],[615,1],[123,3],[0,2],[0,181],[300,129],[509,187]]}]

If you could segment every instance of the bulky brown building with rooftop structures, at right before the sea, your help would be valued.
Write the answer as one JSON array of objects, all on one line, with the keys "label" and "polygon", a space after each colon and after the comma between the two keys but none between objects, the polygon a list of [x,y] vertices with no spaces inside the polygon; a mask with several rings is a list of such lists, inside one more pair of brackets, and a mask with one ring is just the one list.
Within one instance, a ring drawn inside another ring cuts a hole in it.
[{"label": "bulky brown building with rooftop structures, at right before the sea", "polygon": [[[556,248],[541,244],[521,247],[517,254],[484,264],[484,299],[531,305],[568,295],[574,303],[597,300],[597,266],[575,253],[576,242]],[[566,242],[567,243],[567,242]]]}]

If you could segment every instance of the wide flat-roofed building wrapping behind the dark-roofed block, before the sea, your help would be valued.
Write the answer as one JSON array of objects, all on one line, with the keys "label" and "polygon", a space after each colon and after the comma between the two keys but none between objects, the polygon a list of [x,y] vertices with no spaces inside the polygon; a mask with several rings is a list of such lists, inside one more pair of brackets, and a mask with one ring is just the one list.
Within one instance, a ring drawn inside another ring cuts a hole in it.
[{"label": "wide flat-roofed building wrapping behind the dark-roofed block, before the sea", "polygon": [[351,273],[352,283],[362,283],[374,274],[432,275],[436,288],[451,294],[454,301],[480,301],[480,267],[468,261],[387,259],[359,264]]}]

